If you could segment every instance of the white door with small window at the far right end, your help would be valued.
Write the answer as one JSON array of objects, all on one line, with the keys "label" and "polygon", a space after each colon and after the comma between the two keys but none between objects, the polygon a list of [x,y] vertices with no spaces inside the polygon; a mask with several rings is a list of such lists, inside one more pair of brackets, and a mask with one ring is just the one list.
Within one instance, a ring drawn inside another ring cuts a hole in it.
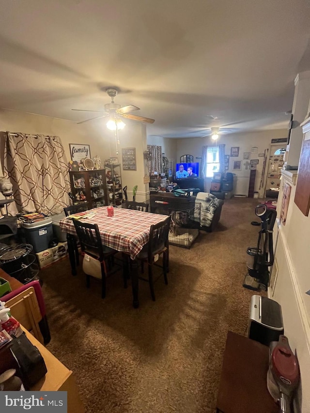
[{"label": "white door with small window at the far right end", "polygon": [[[283,168],[284,160],[283,156],[286,151],[286,146],[283,145],[271,145],[270,155],[267,164],[267,178],[265,191],[270,188],[280,187],[281,169]],[[266,196],[266,194],[265,194]]]}]

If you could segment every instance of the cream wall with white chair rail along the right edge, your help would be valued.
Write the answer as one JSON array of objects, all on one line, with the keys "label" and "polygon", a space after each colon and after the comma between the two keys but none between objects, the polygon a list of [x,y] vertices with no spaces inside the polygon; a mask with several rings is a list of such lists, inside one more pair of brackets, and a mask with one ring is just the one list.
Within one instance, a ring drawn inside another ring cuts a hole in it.
[{"label": "cream wall with white chair rail along the right edge", "polygon": [[[301,128],[300,128],[301,129]],[[310,129],[310,128],[309,128]],[[306,134],[310,139],[310,132]],[[286,176],[287,175],[287,176]],[[297,175],[297,174],[293,174]],[[296,178],[296,176],[295,176]],[[298,176],[297,176],[298,182]],[[283,185],[291,186],[286,223],[280,222]],[[278,200],[278,218],[275,228],[275,264],[273,290],[268,295],[282,307],[284,334],[296,351],[302,380],[302,412],[310,412],[310,215],[305,216],[294,203],[296,182],[290,172],[283,175]]]}]

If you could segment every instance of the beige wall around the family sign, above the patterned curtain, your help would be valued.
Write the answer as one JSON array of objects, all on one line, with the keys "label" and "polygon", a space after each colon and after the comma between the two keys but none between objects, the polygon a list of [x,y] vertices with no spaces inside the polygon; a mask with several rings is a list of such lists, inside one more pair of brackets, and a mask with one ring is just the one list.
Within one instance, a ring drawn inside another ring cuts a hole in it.
[{"label": "beige wall around the family sign, above the patterned curtain", "polygon": [[148,190],[148,185],[143,184],[143,151],[146,150],[146,126],[143,123],[129,120],[126,120],[125,123],[125,128],[119,132],[121,144],[117,155],[114,132],[106,127],[102,119],[77,124],[63,119],[0,109],[0,130],[59,136],[68,161],[70,160],[69,143],[89,144],[91,157],[99,155],[102,165],[104,159],[110,156],[117,156],[119,162],[122,163],[122,147],[136,148],[137,170],[122,170],[122,184],[123,187],[128,186],[129,194],[133,186],[138,185],[139,196],[137,200],[145,200],[145,194]]}]

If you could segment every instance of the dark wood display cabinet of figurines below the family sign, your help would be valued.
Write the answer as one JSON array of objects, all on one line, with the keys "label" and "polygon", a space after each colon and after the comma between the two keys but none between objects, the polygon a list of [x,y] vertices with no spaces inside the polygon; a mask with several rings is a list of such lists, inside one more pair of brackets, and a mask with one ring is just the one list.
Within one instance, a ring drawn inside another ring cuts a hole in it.
[{"label": "dark wood display cabinet of figurines below the family sign", "polygon": [[69,171],[73,203],[87,203],[88,209],[109,205],[105,169]]}]

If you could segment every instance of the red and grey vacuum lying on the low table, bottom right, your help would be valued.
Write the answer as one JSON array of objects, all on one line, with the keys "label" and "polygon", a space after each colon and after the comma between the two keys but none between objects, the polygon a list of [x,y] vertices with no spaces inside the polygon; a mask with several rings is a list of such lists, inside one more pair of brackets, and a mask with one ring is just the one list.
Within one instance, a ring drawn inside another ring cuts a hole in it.
[{"label": "red and grey vacuum lying on the low table, bottom right", "polygon": [[267,388],[272,398],[279,402],[281,413],[293,412],[292,400],[299,384],[300,372],[297,357],[292,352],[286,336],[272,341],[269,346]]}]

